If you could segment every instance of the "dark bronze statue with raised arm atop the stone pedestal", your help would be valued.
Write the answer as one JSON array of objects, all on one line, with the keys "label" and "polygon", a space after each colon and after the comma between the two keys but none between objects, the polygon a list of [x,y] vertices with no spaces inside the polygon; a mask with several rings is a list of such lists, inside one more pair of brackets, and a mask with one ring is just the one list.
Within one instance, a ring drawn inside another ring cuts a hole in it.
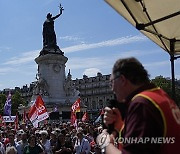
[{"label": "dark bronze statue with raised arm atop the stone pedestal", "polygon": [[56,16],[53,17],[51,13],[48,13],[46,16],[47,19],[43,24],[43,50],[41,51],[40,55],[48,53],[48,51],[51,49],[53,49],[55,52],[60,51],[60,53],[63,54],[57,45],[56,33],[54,30],[54,21],[62,14],[62,11],[64,10],[61,4],[59,9],[60,12]]}]

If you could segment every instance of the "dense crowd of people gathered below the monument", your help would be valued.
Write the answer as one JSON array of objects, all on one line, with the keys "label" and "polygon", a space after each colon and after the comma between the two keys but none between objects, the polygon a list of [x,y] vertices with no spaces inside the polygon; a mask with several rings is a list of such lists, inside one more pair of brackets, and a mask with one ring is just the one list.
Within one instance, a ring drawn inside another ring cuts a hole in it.
[{"label": "dense crowd of people gathered below the monument", "polygon": [[101,124],[71,122],[42,124],[35,128],[22,124],[1,128],[0,154],[89,154],[100,153],[96,137],[102,131]]}]

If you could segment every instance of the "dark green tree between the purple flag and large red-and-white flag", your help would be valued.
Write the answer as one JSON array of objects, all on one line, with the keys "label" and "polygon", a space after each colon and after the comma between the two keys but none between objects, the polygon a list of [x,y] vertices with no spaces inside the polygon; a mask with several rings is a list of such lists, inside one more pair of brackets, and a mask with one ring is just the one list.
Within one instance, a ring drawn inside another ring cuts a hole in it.
[{"label": "dark green tree between the purple flag and large red-and-white flag", "polygon": [[12,107],[11,107],[11,114],[16,115],[18,112],[19,104],[25,105],[26,101],[21,97],[21,94],[16,91],[15,94],[12,96]]}]

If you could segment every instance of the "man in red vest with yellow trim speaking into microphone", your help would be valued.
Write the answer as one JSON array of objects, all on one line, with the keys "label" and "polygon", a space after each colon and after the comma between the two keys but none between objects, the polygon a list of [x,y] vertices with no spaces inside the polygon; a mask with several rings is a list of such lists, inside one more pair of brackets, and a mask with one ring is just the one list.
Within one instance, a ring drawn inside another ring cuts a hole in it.
[{"label": "man in red vest with yellow trim speaking into microphone", "polygon": [[[110,82],[117,101],[127,105],[124,121],[117,108],[105,108],[104,123],[114,131],[103,131],[97,142],[107,154],[172,154],[180,151],[180,110],[135,58],[119,59]],[[121,132],[121,133],[117,133]],[[121,134],[121,136],[119,136]],[[119,136],[115,144],[115,137]]]}]

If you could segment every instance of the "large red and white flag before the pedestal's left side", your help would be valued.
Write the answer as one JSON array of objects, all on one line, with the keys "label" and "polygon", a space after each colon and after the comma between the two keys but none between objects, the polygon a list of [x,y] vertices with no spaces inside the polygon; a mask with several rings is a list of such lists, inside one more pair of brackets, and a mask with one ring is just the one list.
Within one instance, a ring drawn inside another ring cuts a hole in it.
[{"label": "large red and white flag before the pedestal's left side", "polygon": [[49,117],[47,109],[44,105],[42,97],[39,95],[30,108],[28,117],[34,127],[38,127],[38,123]]}]

